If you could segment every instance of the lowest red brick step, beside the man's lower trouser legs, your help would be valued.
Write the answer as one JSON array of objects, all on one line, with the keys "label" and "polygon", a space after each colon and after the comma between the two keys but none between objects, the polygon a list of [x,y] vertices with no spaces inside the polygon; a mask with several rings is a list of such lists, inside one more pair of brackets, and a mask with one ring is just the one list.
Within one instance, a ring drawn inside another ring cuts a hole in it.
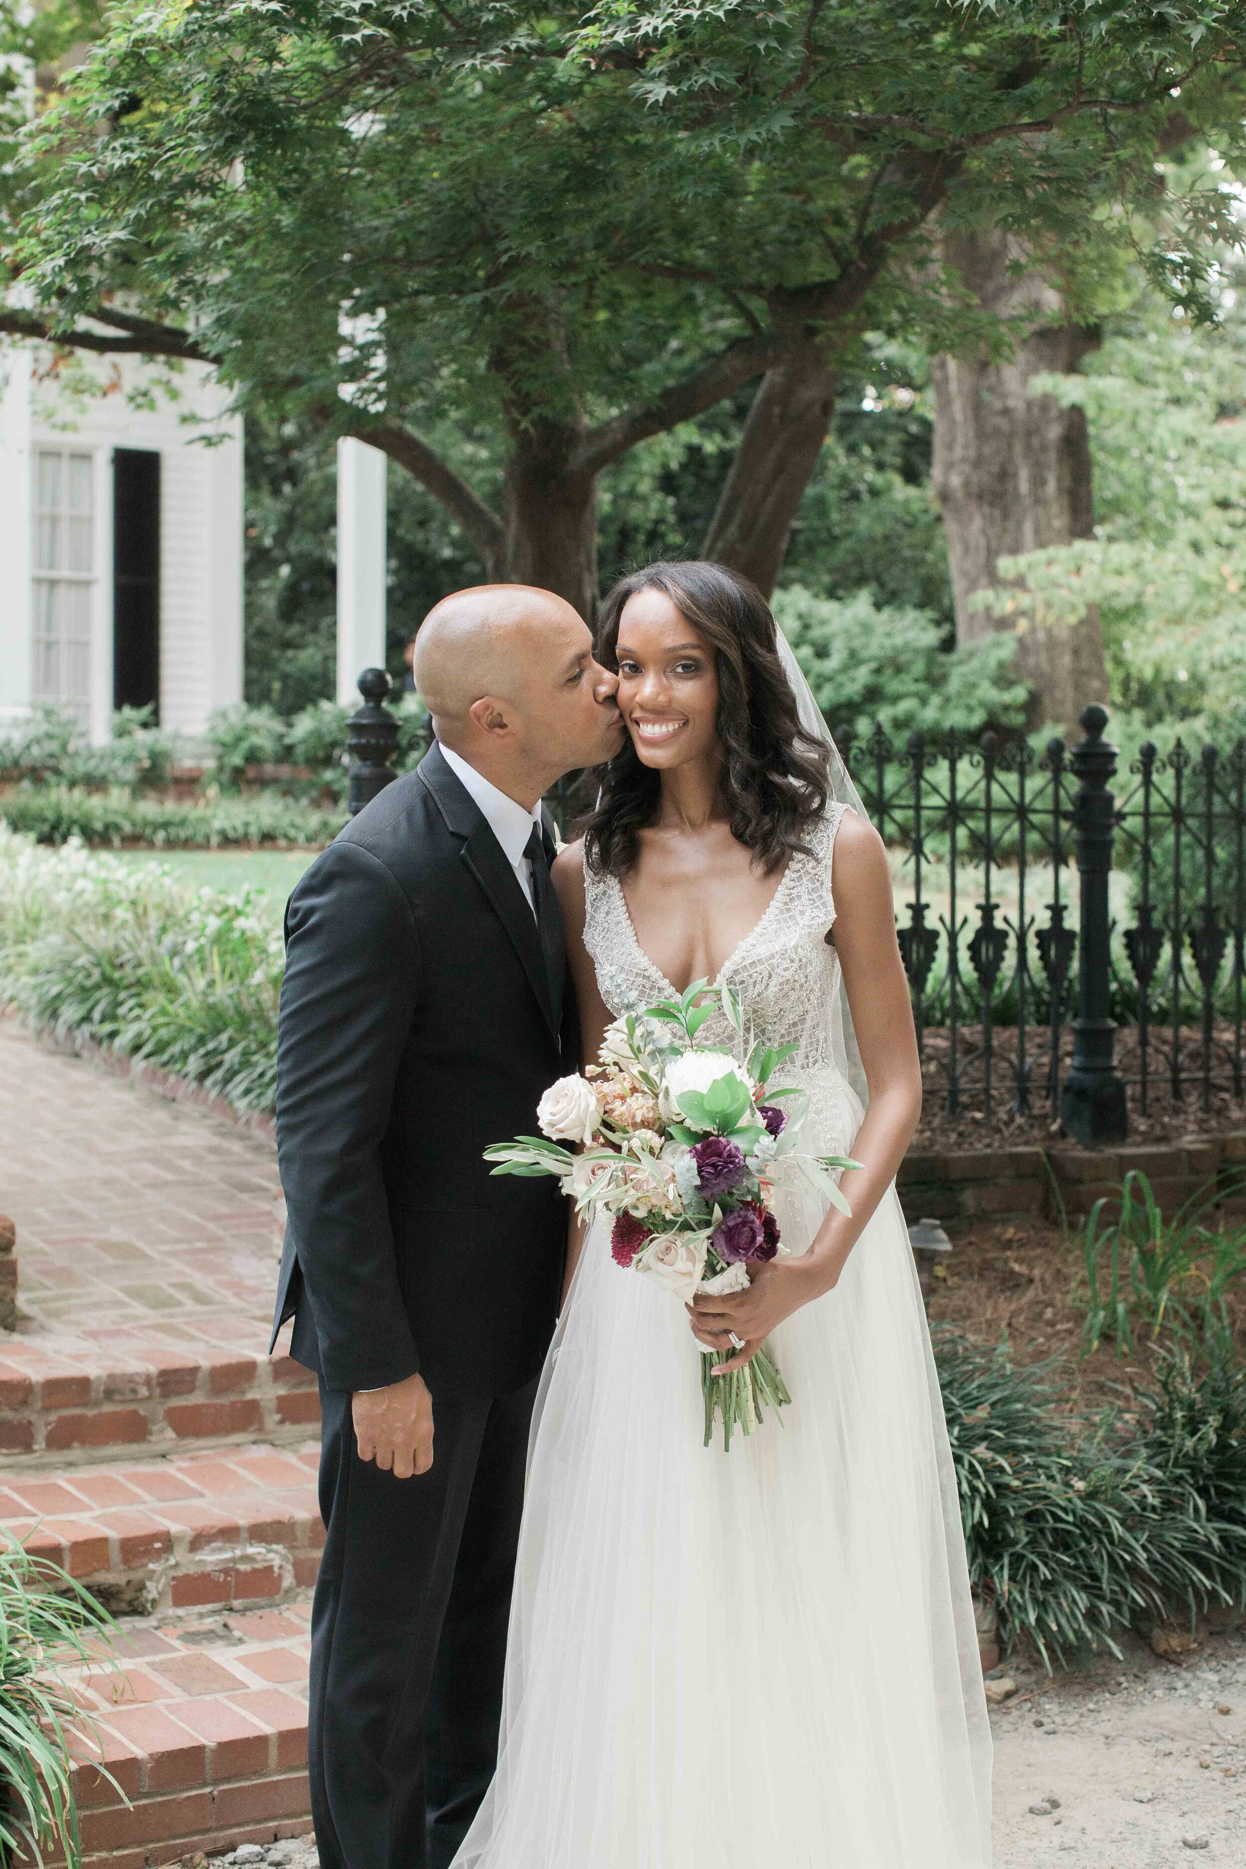
[{"label": "lowest red brick step, beside the man's lower trouser legs", "polygon": [[308,1615],[295,1602],[121,1624],[120,1667],[77,1686],[84,1865],[146,1869],[310,1830]]}]

